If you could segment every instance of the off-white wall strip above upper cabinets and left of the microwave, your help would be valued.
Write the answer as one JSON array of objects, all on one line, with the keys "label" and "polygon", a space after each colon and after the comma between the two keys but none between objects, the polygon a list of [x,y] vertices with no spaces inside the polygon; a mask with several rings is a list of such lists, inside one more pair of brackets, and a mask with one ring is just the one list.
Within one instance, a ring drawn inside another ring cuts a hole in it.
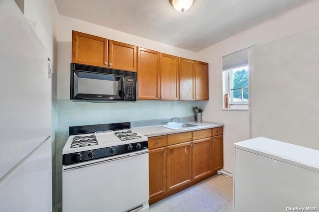
[{"label": "off-white wall strip above upper cabinets and left of the microwave", "polygon": [[70,99],[70,63],[72,30],[80,31],[143,48],[160,51],[179,57],[195,59],[196,53],[154,40],[135,36],[79,19],[62,16],[59,18],[58,52],[58,99]]}]

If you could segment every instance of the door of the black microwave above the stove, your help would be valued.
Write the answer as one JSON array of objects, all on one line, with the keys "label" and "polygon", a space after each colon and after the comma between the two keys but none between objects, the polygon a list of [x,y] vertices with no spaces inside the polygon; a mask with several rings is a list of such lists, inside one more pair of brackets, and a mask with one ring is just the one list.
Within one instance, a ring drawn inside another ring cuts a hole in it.
[{"label": "door of the black microwave above the stove", "polygon": [[71,100],[123,100],[124,77],[71,71]]}]

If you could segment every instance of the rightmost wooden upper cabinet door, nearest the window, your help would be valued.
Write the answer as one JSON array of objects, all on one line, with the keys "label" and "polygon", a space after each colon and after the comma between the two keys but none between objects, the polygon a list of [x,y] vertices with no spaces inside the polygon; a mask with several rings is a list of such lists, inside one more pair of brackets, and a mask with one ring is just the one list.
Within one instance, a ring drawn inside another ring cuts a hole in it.
[{"label": "rightmost wooden upper cabinet door, nearest the window", "polygon": [[208,63],[195,62],[195,98],[208,100]]}]

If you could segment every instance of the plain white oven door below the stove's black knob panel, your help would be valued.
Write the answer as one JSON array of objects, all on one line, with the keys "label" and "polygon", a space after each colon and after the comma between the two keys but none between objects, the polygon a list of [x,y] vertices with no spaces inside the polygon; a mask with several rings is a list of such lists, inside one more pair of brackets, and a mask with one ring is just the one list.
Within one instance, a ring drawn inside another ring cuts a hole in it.
[{"label": "plain white oven door below the stove's black knob panel", "polygon": [[149,201],[149,151],[63,166],[63,212],[143,211]]}]

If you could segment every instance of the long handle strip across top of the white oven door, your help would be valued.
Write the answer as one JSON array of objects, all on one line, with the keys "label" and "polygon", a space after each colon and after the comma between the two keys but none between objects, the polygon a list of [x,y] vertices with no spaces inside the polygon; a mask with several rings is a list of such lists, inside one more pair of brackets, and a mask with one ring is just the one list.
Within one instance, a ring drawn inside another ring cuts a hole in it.
[{"label": "long handle strip across top of the white oven door", "polygon": [[111,162],[111,161],[115,161],[115,160],[120,160],[120,159],[124,159],[124,158],[129,158],[129,157],[133,157],[136,155],[142,155],[142,154],[147,154],[149,153],[148,149],[144,149],[138,152],[132,152],[129,155],[125,154],[125,155],[116,155],[113,157],[106,157],[106,158],[102,158],[102,159],[96,159],[96,160],[92,160],[92,161],[87,161],[87,162],[83,162],[83,163],[77,163],[77,164],[72,164],[69,166],[64,166],[63,167],[63,171],[69,171],[69,170],[73,170],[73,169],[78,169],[78,168],[83,168],[83,167],[87,167],[87,166],[92,166],[92,165],[96,165],[96,164],[100,164],[100,163],[106,163],[106,162]]}]

